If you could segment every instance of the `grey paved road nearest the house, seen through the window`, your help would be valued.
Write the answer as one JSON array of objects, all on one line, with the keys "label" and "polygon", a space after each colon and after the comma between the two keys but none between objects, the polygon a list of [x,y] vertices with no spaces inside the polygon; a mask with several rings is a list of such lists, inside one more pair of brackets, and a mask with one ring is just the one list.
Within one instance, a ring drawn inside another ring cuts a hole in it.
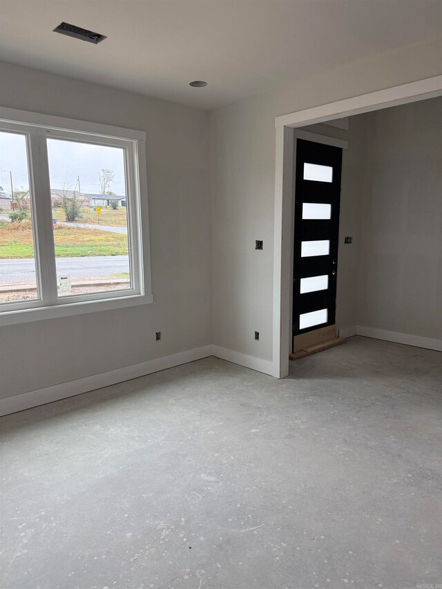
[{"label": "grey paved road nearest the house, seen through the window", "polygon": [[[57,258],[57,273],[68,276],[108,276],[128,272],[127,255],[90,255],[87,258]],[[35,280],[35,263],[32,258],[0,260],[0,282],[9,280]]]}]

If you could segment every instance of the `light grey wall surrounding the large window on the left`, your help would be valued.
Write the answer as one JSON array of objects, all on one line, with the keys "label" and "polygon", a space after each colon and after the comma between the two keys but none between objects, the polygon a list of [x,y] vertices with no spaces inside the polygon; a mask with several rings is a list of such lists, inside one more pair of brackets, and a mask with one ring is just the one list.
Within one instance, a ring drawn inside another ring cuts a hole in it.
[{"label": "light grey wall surrounding the large window on the left", "polygon": [[1,395],[209,344],[207,113],[11,64],[0,77],[2,106],[146,131],[154,297],[142,307],[3,327]]}]

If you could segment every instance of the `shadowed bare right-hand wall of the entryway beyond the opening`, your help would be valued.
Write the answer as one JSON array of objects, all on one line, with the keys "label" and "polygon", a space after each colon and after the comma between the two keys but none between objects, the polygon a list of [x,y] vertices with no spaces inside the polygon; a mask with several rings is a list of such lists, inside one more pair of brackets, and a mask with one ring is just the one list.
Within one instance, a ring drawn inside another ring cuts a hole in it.
[{"label": "shadowed bare right-hand wall of the entryway beyond the opening", "polygon": [[365,122],[358,325],[442,339],[442,98]]}]

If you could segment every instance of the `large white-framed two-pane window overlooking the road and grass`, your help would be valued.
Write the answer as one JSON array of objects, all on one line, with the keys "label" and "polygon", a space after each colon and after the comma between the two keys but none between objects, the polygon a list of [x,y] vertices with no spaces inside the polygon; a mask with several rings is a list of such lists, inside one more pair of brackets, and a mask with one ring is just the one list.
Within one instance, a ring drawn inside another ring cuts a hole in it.
[{"label": "large white-framed two-pane window overlooking the road and grass", "polygon": [[3,322],[151,302],[144,133],[2,116]]}]

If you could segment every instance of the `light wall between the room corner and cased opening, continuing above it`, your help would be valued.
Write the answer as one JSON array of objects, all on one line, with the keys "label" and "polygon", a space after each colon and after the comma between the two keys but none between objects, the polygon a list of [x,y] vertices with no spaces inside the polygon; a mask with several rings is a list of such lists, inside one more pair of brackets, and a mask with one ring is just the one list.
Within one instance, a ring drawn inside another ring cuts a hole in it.
[{"label": "light wall between the room corner and cased opening, continuing above it", "polygon": [[[275,117],[440,75],[440,52],[440,41],[404,47],[211,112],[215,345],[272,360]],[[255,251],[256,239],[264,241],[262,251]],[[340,277],[354,276],[346,263],[340,262]],[[341,280],[338,295],[347,291],[356,299],[357,288],[357,280]],[[340,305],[338,313],[343,313]],[[258,341],[255,330],[260,331]]]}]

